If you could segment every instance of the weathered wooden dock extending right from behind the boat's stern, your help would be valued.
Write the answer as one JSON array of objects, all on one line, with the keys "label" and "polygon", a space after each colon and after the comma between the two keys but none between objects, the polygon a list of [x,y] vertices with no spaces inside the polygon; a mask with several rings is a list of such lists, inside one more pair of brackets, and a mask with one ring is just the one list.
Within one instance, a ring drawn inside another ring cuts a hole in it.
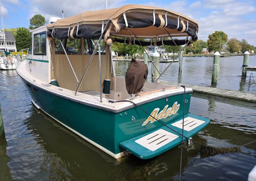
[{"label": "weathered wooden dock extending right from behind the boat's stern", "polygon": [[[166,82],[163,84],[176,85],[177,83]],[[256,94],[248,92],[240,92],[228,89],[219,89],[206,86],[193,86],[187,84],[180,84],[193,89],[192,95],[198,98],[209,99],[213,101],[229,103],[236,106],[256,109]]]}]

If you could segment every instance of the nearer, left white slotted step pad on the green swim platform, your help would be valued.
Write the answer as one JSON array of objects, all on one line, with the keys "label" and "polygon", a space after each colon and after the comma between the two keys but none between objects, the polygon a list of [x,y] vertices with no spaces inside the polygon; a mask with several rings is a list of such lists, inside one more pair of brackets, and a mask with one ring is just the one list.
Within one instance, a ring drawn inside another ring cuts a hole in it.
[{"label": "nearer, left white slotted step pad on the green swim platform", "polygon": [[179,136],[171,132],[159,129],[149,135],[144,136],[143,138],[137,139],[135,142],[151,151],[155,151],[178,137]]}]

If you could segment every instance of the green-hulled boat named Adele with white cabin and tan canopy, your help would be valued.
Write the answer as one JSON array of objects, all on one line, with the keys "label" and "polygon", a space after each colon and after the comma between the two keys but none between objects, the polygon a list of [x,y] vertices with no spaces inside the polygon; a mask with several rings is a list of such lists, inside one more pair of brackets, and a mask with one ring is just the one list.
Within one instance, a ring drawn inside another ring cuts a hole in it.
[{"label": "green-hulled boat named Adele with white cabin and tan canopy", "polygon": [[116,159],[128,152],[148,159],[209,124],[189,113],[191,88],[147,82],[148,67],[137,60],[118,78],[111,55],[114,42],[185,47],[198,40],[195,20],[126,5],[49,22],[31,30],[32,48],[16,70],[33,105],[84,140]]}]

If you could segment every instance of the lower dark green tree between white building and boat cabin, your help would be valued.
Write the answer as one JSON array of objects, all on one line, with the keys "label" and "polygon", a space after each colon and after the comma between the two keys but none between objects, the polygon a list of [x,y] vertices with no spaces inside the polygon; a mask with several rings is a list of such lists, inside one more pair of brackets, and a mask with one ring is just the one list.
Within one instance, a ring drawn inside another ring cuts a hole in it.
[{"label": "lower dark green tree between white building and boat cabin", "polygon": [[21,49],[29,48],[30,45],[30,33],[26,28],[17,28],[15,35],[17,52]]}]

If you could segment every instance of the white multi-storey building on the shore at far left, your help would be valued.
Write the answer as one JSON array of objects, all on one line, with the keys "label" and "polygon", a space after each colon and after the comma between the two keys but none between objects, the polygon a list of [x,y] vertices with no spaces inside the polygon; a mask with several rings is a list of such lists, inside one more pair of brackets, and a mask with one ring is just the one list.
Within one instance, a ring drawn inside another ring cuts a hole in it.
[{"label": "white multi-storey building on the shore at far left", "polygon": [[0,31],[0,50],[7,52],[17,52],[15,42],[16,40],[12,32],[5,32],[4,35],[3,32]]}]

